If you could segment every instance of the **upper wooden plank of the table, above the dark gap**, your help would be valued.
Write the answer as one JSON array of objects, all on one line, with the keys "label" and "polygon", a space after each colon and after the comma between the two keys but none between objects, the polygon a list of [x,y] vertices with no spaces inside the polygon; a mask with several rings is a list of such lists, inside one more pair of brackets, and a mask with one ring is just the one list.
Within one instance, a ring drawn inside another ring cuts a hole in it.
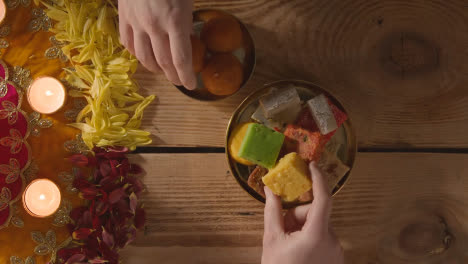
[{"label": "upper wooden plank of the table, above the dark gap", "polygon": [[144,119],[155,145],[223,146],[250,92],[279,79],[316,82],[349,110],[361,147],[468,147],[468,4],[464,0],[196,1],[241,18],[257,68],[219,102],[185,97],[141,70],[159,96]]}]

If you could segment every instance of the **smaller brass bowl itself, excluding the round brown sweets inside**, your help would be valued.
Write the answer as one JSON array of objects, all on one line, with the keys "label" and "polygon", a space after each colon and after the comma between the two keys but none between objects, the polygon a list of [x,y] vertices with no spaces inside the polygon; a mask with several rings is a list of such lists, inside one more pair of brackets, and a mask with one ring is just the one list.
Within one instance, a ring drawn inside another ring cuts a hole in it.
[{"label": "smaller brass bowl itself, excluding the round brown sweets inside", "polygon": [[[244,68],[244,80],[242,81],[241,87],[234,93],[230,95],[214,95],[209,93],[204,87],[200,87],[202,83],[199,81],[199,87],[197,87],[195,90],[188,90],[184,86],[177,86],[177,89],[181,91],[183,94],[192,97],[193,99],[200,100],[200,101],[215,101],[215,100],[220,100],[229,96],[232,96],[233,94],[237,93],[240,89],[242,89],[246,83],[250,80],[252,77],[254,68],[255,68],[255,63],[256,63],[256,57],[255,57],[255,45],[252,39],[252,35],[250,34],[249,30],[247,27],[232,14],[229,14],[225,11],[222,10],[217,10],[217,9],[199,9],[193,12],[193,23],[194,23],[194,28],[197,27],[197,23],[200,25],[200,23],[204,22],[205,17],[208,16],[231,16],[235,18],[239,24],[241,25],[241,30],[242,30],[242,39],[243,39],[243,47],[245,51],[245,57],[243,61],[243,68]],[[194,29],[196,32],[197,30]],[[199,75],[199,74],[197,74]],[[199,78],[200,79],[200,78]]]}]

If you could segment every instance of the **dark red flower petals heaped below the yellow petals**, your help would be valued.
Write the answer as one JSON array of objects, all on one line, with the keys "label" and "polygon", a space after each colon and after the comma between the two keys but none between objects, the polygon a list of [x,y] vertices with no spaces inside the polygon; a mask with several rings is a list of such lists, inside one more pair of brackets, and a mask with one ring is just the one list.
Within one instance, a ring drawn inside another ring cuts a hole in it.
[{"label": "dark red flower petals heaped below the yellow petals", "polygon": [[70,161],[81,169],[73,187],[89,206],[74,208],[68,225],[73,242],[58,252],[60,263],[119,263],[119,250],[145,224],[138,198],[141,167],[129,162],[128,148],[94,148],[94,156],[76,154]]}]

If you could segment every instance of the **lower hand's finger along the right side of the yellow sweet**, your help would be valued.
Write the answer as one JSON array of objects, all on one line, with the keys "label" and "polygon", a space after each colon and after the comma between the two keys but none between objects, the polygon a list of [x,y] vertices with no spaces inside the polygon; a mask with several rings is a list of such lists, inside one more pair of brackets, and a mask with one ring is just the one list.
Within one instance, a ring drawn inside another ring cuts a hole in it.
[{"label": "lower hand's finger along the right side of the yellow sweet", "polygon": [[312,174],[314,200],[307,214],[307,222],[304,227],[311,231],[327,231],[331,213],[331,197],[328,184],[314,162],[310,163],[309,169]]}]

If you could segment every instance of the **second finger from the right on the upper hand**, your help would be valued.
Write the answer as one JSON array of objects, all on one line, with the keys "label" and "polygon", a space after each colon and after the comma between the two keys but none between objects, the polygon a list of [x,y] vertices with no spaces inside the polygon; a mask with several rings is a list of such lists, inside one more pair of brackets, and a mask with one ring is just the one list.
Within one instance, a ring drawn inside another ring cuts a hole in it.
[{"label": "second finger from the right on the upper hand", "polygon": [[158,61],[159,67],[166,74],[167,79],[175,85],[182,85],[177,71],[172,63],[171,47],[167,34],[151,34],[151,44],[153,52]]}]

